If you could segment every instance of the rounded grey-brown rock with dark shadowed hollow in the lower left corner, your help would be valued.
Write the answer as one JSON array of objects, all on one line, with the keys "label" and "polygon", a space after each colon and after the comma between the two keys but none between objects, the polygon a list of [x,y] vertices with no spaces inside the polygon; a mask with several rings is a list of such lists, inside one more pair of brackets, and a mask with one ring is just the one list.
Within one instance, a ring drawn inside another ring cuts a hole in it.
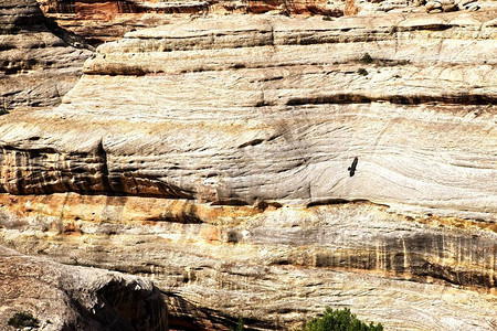
[{"label": "rounded grey-brown rock with dark shadowed hollow in the lower left corner", "polygon": [[59,265],[0,246],[0,328],[20,311],[40,330],[167,330],[160,291],[146,279]]}]

